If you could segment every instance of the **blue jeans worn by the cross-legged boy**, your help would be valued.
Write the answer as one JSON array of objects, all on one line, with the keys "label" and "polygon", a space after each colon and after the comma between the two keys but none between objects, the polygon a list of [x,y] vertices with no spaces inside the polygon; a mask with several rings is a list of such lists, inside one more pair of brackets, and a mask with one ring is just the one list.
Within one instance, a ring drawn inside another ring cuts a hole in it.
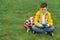
[{"label": "blue jeans worn by the cross-legged boy", "polygon": [[46,34],[48,32],[53,32],[53,30],[55,29],[54,26],[51,26],[51,27],[48,27],[46,28],[46,25],[43,24],[43,28],[40,28],[40,27],[36,27],[35,25],[32,26],[32,30],[33,31],[36,31],[38,33],[42,33],[42,34]]}]

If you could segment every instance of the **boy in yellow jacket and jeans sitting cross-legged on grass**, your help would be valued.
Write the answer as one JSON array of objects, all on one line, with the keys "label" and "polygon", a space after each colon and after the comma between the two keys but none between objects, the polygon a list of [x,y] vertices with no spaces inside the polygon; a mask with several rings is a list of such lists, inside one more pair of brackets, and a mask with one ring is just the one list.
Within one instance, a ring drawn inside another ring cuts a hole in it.
[{"label": "boy in yellow jacket and jeans sitting cross-legged on grass", "polygon": [[41,9],[37,11],[32,29],[35,32],[53,36],[53,21],[51,13],[47,10],[47,3],[41,3]]}]

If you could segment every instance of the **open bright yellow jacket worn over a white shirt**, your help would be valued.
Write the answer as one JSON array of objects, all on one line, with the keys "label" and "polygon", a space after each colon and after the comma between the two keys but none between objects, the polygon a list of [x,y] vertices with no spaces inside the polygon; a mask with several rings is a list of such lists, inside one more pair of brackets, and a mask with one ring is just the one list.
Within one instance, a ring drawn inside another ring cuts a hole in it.
[{"label": "open bright yellow jacket worn over a white shirt", "polygon": [[[41,22],[42,22],[42,12],[39,10],[36,13],[35,19],[34,19],[34,25],[35,26],[40,26]],[[49,24],[49,26],[53,25],[53,21],[51,19],[51,13],[49,13],[48,11],[46,11],[46,15],[45,18],[47,19],[47,23]],[[38,22],[39,21],[39,22]]]}]

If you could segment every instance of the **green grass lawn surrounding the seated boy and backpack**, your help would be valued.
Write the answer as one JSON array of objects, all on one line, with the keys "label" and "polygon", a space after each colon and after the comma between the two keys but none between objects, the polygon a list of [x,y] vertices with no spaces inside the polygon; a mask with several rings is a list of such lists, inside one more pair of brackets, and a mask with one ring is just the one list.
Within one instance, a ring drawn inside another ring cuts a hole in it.
[{"label": "green grass lawn surrounding the seated boy and backpack", "polygon": [[[54,37],[24,30],[24,21],[35,16],[41,2],[52,14]],[[60,0],[0,0],[0,40],[60,40]]]}]

